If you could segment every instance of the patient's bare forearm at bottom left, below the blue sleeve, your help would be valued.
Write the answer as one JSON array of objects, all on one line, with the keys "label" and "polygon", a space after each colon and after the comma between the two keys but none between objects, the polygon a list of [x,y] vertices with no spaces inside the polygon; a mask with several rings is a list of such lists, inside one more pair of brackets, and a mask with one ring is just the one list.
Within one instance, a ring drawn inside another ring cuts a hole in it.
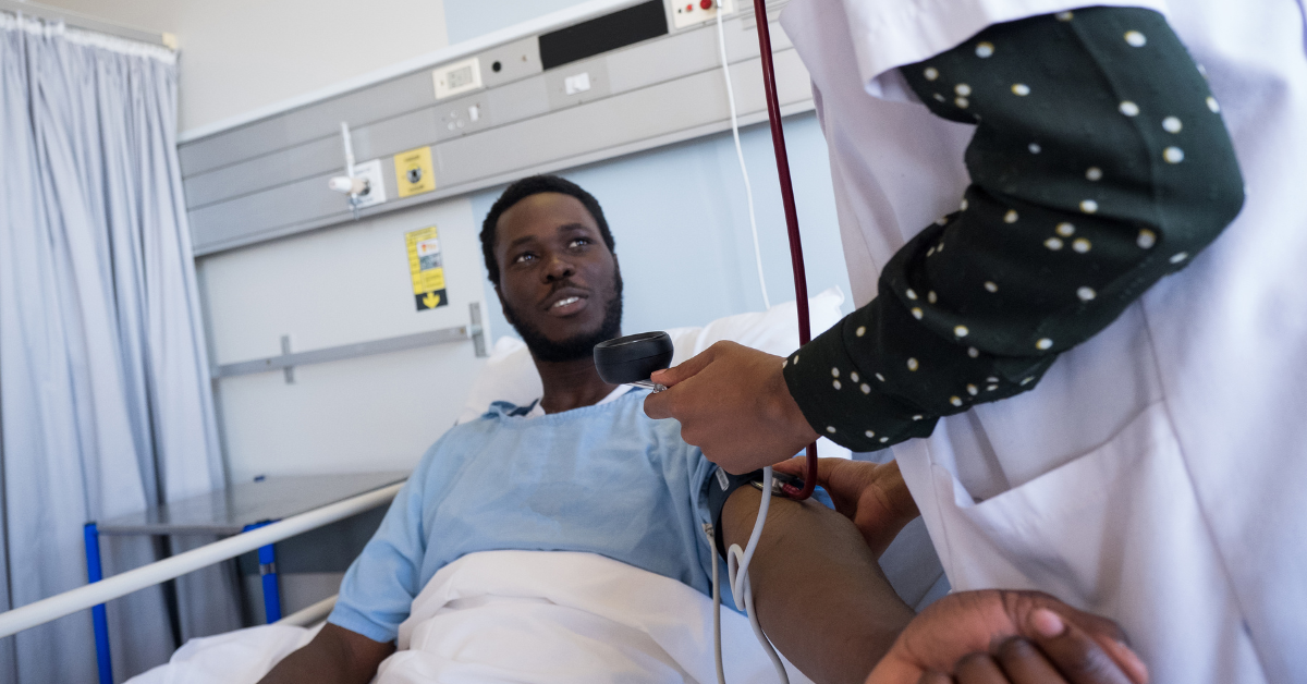
[{"label": "patient's bare forearm at bottom left, below the blue sleeve", "polygon": [[367,684],[395,643],[382,643],[327,623],[303,649],[288,655],[259,684]]}]

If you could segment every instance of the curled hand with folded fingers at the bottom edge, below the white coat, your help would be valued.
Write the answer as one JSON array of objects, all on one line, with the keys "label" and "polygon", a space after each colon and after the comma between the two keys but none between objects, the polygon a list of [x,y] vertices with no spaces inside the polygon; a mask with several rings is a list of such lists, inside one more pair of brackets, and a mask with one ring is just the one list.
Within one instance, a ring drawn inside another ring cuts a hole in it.
[{"label": "curled hand with folded fingers at the bottom edge, below the white coat", "polygon": [[865,684],[1148,684],[1116,623],[1039,591],[961,591],[921,611]]}]

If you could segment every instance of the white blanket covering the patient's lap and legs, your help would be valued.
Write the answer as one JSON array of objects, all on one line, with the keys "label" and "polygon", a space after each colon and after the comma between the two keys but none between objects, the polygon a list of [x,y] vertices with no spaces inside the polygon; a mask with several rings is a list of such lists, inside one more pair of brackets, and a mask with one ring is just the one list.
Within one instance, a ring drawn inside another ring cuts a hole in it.
[{"label": "white blanket covering the patient's lap and legs", "polygon": [[[749,623],[723,608],[727,681],[776,675]],[[192,640],[131,684],[254,684],[311,638],[257,626]],[[591,553],[490,551],[443,568],[413,602],[374,684],[712,684],[712,602]],[[793,683],[808,677],[789,667]]]}]

